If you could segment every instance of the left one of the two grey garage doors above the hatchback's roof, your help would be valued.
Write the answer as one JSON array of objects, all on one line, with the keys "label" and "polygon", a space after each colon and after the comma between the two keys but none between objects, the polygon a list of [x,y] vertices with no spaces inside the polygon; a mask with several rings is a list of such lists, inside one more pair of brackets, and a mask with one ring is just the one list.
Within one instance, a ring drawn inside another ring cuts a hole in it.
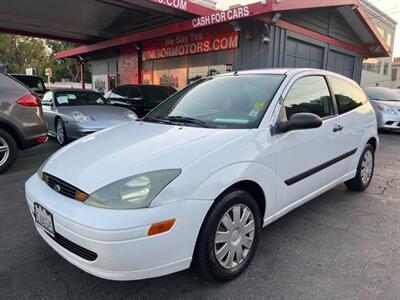
[{"label": "left one of the two grey garage doors above the hatchback's roof", "polygon": [[288,38],[284,66],[287,68],[322,68],[323,48]]}]

